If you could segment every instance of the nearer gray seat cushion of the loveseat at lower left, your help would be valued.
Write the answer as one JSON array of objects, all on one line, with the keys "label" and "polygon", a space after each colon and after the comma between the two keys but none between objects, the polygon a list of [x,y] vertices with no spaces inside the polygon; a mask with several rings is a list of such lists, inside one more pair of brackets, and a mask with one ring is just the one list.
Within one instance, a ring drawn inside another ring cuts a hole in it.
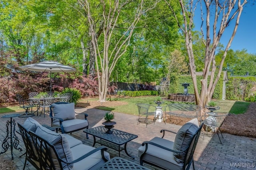
[{"label": "nearer gray seat cushion of the loveseat at lower left", "polygon": [[[71,148],[74,159],[94,150],[94,147],[88,145],[77,145]],[[104,156],[107,160],[110,160],[110,155],[108,152],[104,152]],[[91,154],[87,158],[74,163],[74,170],[97,170],[105,163],[101,156],[100,150]]]}]

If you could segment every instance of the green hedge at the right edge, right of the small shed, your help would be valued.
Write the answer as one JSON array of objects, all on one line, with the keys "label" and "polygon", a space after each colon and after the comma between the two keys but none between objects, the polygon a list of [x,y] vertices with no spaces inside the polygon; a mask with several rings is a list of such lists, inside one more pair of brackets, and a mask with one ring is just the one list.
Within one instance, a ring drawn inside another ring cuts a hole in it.
[{"label": "green hedge at the right edge, right of the small shed", "polygon": [[256,101],[256,78],[254,76],[234,76],[228,78],[226,99],[247,102]]}]

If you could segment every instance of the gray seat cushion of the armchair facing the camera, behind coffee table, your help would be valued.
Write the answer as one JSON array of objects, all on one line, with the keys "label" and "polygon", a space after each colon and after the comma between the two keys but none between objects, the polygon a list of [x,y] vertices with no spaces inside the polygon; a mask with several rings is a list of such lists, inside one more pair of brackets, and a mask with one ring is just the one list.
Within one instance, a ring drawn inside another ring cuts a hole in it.
[{"label": "gray seat cushion of the armchair facing the camera, behind coffee table", "polygon": [[[60,126],[60,122],[52,123],[53,125]],[[88,121],[84,119],[71,119],[62,122],[65,132],[75,131],[88,126]]]}]

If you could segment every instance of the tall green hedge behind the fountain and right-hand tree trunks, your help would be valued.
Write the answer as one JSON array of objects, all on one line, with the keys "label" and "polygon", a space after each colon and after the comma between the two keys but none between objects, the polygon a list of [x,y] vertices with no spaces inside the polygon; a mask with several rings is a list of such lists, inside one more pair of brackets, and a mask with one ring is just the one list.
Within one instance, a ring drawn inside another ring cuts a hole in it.
[{"label": "tall green hedge behind the fountain and right-hand tree trunks", "polygon": [[[215,74],[216,75],[216,74]],[[196,76],[197,78],[197,87],[198,92],[200,94],[202,85],[201,85],[201,79],[203,76]],[[210,80],[210,76],[208,76],[208,82]],[[170,77],[170,94],[176,94],[176,93],[184,93],[184,87],[182,86],[182,83],[190,83],[190,86],[188,86],[188,93],[194,94],[194,86],[191,75],[172,75]],[[222,99],[222,87],[223,87],[223,72],[220,74],[220,79],[218,83],[216,84],[214,94],[212,98],[221,100]]]}]

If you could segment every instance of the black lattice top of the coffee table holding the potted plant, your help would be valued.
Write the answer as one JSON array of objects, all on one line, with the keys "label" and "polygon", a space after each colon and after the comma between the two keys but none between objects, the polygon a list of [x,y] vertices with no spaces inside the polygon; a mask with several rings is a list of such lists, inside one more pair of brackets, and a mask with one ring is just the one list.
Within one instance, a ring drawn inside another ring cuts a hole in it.
[{"label": "black lattice top of the coffee table holding the potted plant", "polygon": [[116,145],[123,145],[138,137],[138,135],[127,133],[117,129],[112,129],[113,133],[108,134],[106,133],[107,130],[108,129],[106,129],[104,126],[98,126],[92,129],[85,129],[84,132],[90,135],[93,135],[95,137],[98,137],[100,139],[104,139],[105,141],[114,143]]}]

